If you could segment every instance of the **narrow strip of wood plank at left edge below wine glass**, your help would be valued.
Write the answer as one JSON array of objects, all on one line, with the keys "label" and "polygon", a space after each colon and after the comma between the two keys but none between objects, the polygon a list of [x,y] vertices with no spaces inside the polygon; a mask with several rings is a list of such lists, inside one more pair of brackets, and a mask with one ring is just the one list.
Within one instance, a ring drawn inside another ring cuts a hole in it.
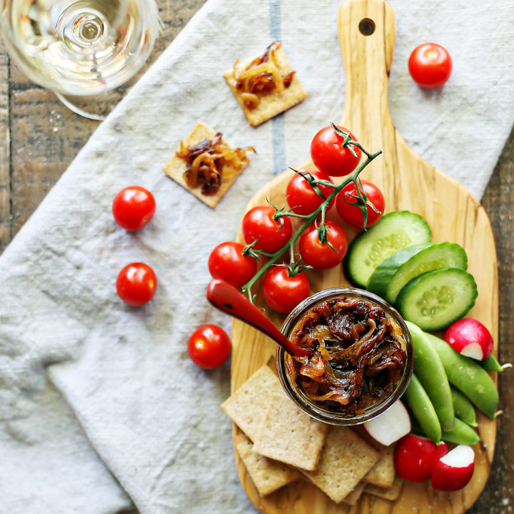
[{"label": "narrow strip of wood plank at left edge below wine glass", "polygon": [[11,240],[9,58],[0,42],[0,253]]}]

